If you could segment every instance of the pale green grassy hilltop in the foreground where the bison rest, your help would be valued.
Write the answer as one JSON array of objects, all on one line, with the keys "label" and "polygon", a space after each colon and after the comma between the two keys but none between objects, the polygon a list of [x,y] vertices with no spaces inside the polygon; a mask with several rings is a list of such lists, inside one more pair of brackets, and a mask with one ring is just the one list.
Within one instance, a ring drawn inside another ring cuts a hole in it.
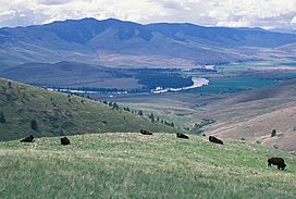
[{"label": "pale green grassy hilltop in the foreground where the bison rest", "polygon": [[[0,142],[5,198],[294,198],[296,158],[245,141],[96,134]],[[267,159],[285,159],[286,171]],[[17,188],[16,188],[17,187]]]}]

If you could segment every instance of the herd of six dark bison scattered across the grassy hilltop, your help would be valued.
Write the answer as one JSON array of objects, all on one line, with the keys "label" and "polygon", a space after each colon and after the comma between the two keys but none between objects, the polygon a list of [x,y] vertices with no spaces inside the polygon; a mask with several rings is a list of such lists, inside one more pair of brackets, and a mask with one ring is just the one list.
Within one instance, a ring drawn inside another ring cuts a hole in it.
[{"label": "herd of six dark bison scattered across the grassy hilltop", "polygon": [[[151,132],[148,132],[146,129],[140,129],[140,134],[141,135],[153,135]],[[202,134],[202,136],[206,136],[206,135]],[[181,133],[177,133],[176,137],[181,138],[181,139],[189,139],[188,136],[186,136],[185,134],[181,134]],[[21,139],[20,141],[21,142],[33,142],[34,136],[29,135],[28,137]],[[218,139],[214,136],[209,136],[209,141],[213,142],[213,144],[223,145],[223,141],[221,139]],[[70,139],[67,137],[62,137],[61,145],[64,145],[64,146],[70,145]],[[286,167],[284,159],[278,158],[278,157],[272,157],[272,158],[268,159],[268,166],[271,166],[272,164],[276,165],[279,170],[285,170],[285,167]]]}]

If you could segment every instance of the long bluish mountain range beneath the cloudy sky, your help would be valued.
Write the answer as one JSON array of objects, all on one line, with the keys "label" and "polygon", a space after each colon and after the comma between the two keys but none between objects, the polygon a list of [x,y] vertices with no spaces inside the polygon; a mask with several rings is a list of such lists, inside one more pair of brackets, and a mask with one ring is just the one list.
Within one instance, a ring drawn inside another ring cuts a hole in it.
[{"label": "long bluish mountain range beneath the cloudy sky", "polygon": [[[190,66],[276,58],[272,51],[296,43],[296,35],[261,28],[202,27],[194,24],[141,25],[114,18],[67,20],[1,28],[0,63],[78,61],[101,65]],[[295,58],[283,51],[280,58]],[[296,58],[295,58],[296,59]]]}]

